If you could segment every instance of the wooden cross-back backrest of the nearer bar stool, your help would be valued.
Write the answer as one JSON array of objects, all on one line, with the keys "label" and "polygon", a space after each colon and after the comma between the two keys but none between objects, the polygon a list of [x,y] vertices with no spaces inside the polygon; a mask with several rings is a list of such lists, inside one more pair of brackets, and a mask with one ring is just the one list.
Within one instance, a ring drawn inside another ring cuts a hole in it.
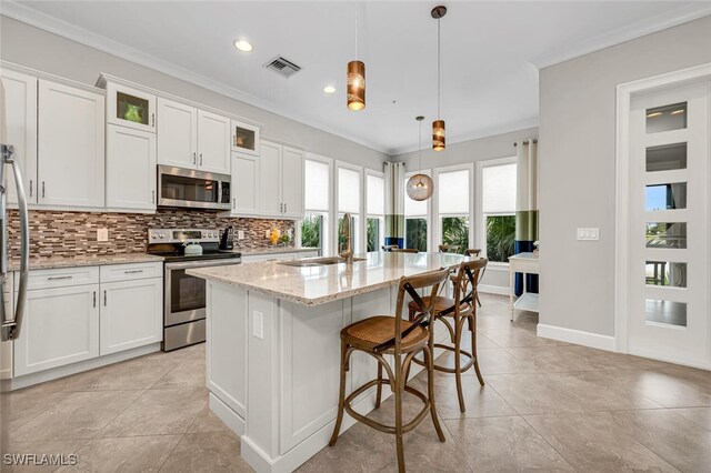
[{"label": "wooden cross-back backrest of the nearer bar stool", "polygon": [[[448,276],[449,269],[442,268],[434,271],[428,271],[422,274],[400,278],[400,283],[398,284],[398,302],[395,304],[394,314],[395,335],[393,339],[375,346],[373,349],[375,352],[385,351],[394,346],[395,354],[400,353],[402,339],[405,339],[418,326],[427,328],[431,323],[433,319],[430,309],[432,308],[434,296],[439,292],[440,285],[447,280]],[[418,294],[417,292],[418,289],[424,288],[432,288],[430,294],[430,305],[424,304],[424,302],[422,302],[422,299],[420,298],[420,294]],[[414,299],[423,310],[418,315],[418,318],[412,321],[412,325],[410,325],[405,330],[402,330],[402,310],[405,304],[405,293],[410,294],[410,296],[412,296],[412,299]]]}]

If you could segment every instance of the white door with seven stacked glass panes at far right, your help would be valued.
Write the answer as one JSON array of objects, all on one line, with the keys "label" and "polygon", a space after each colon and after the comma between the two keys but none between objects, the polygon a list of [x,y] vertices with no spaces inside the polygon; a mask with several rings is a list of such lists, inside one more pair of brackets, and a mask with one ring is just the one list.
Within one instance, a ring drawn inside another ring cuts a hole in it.
[{"label": "white door with seven stacked glass panes at far right", "polygon": [[711,365],[709,84],[633,97],[630,110],[632,354]]}]

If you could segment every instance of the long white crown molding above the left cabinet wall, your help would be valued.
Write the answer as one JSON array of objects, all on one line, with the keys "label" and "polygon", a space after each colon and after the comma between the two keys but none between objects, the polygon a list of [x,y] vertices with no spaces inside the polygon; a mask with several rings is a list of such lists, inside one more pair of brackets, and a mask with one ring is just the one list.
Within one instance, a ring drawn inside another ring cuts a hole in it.
[{"label": "long white crown molding above the left cabinet wall", "polygon": [[50,17],[18,1],[2,0],[0,4],[0,14],[48,31],[50,33],[60,36],[62,38],[67,38],[80,44],[84,44],[99,51],[109,53],[111,56],[116,56],[117,58],[121,58],[123,60],[143,66],[149,69],[153,69],[158,72],[162,72],[176,79],[192,83],[193,85],[198,85],[212,92],[220,93],[230,99],[244,102],[249,105],[298,121],[302,124],[316,128],[327,133],[334,134],[337,137],[343,138],[357,144],[361,144],[365,148],[370,148],[383,154],[388,154],[387,147],[382,147],[368,140],[363,140],[360,137],[353,137],[344,130],[333,127],[328,122],[313,120],[310,117],[306,117],[301,113],[296,113],[291,110],[287,110],[286,108],[272,101],[260,99],[242,90],[226,85],[222,82],[176,66],[172,62],[164,61],[152,54],[147,54],[143,51],[109,39],[102,34],[98,34],[93,31],[77,27],[76,24],[71,24],[67,21]]}]

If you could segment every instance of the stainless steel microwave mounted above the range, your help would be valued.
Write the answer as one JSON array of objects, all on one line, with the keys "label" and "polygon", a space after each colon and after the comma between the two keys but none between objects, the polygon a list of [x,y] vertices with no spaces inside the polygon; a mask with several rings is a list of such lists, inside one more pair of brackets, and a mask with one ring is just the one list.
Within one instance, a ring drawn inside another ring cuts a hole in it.
[{"label": "stainless steel microwave mounted above the range", "polygon": [[158,205],[230,209],[230,177],[197,169],[158,167]]}]

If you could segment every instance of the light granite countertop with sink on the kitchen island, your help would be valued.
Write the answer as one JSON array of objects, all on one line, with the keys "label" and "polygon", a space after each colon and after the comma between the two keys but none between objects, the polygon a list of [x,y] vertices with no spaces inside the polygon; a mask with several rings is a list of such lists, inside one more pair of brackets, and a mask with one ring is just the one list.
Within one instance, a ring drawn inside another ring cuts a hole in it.
[{"label": "light granite countertop with sink on the kitchen island", "polygon": [[357,256],[365,261],[307,268],[268,261],[197,268],[188,274],[312,306],[388,288],[403,275],[454,266],[464,260],[453,253],[372,252]]}]

